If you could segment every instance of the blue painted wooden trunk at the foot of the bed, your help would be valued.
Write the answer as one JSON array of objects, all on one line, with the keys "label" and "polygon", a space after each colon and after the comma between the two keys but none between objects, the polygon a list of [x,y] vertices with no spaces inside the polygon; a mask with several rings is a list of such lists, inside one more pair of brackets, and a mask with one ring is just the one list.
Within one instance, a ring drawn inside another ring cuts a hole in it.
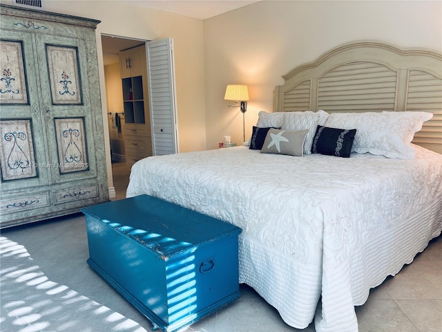
[{"label": "blue painted wooden trunk at the foot of the bed", "polygon": [[240,297],[235,225],[147,195],[81,211],[90,267],[163,331]]}]

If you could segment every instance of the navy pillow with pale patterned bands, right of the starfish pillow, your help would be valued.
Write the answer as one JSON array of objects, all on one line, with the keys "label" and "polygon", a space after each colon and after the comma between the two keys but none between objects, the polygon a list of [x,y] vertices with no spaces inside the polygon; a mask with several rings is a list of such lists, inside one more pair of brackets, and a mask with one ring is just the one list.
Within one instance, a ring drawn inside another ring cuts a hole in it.
[{"label": "navy pillow with pale patterned bands, right of the starfish pillow", "polygon": [[311,153],[349,158],[355,134],[356,129],[318,126],[311,145]]}]

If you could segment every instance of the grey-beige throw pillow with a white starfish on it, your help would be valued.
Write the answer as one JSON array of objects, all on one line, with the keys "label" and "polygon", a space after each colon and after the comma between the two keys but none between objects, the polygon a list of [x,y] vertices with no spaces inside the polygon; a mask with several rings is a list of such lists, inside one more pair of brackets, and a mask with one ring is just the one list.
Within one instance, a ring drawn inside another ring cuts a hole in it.
[{"label": "grey-beige throw pillow with a white starfish on it", "polygon": [[262,154],[288,154],[290,156],[302,156],[305,136],[309,129],[298,131],[286,131],[269,129],[262,145]]}]

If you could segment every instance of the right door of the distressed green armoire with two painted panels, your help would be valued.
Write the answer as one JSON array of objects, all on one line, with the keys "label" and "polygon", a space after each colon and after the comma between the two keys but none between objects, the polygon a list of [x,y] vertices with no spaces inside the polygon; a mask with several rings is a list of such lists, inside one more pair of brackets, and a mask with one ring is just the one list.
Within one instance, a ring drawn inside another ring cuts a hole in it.
[{"label": "right door of the distressed green armoire with two painted panels", "polygon": [[[51,183],[97,176],[95,163],[95,116],[91,108],[86,45],[76,37],[39,35],[37,57],[41,84],[49,77],[44,101]],[[82,56],[81,56],[82,55]]]}]

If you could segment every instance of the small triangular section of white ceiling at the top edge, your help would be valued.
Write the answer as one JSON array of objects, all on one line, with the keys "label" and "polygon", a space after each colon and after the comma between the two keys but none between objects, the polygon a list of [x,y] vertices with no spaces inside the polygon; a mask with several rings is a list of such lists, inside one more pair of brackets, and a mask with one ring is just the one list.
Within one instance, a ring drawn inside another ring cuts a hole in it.
[{"label": "small triangular section of white ceiling at the top edge", "polygon": [[173,12],[195,19],[209,19],[224,12],[250,5],[260,0],[125,0],[140,6]]}]

